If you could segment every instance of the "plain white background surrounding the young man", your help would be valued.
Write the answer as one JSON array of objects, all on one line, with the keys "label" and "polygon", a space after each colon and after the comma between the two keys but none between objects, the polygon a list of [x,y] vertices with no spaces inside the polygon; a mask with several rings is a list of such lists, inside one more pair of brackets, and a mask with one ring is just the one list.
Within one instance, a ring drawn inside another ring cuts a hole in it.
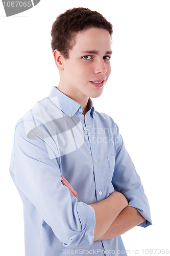
[{"label": "plain white background surrounding the young man", "polygon": [[22,203],[9,175],[15,123],[58,85],[52,23],[61,12],[78,6],[101,12],[113,24],[112,75],[103,95],[93,102],[96,110],[118,124],[151,206],[153,225],[124,234],[126,250],[129,255],[162,255],[146,249],[170,247],[170,2],[166,0],[41,0],[11,17],[5,16],[0,3],[0,254],[24,255]]}]

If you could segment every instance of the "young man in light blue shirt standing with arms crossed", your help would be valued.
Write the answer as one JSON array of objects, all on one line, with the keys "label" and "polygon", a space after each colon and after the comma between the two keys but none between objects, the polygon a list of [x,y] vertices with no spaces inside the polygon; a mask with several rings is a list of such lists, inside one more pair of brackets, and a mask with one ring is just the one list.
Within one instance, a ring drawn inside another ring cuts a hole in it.
[{"label": "young man in light blue shirt standing with arms crossed", "polygon": [[112,26],[74,8],[57,17],[51,34],[60,81],[16,124],[10,166],[26,255],[125,255],[120,234],[151,217],[117,125],[90,99],[111,72]]}]

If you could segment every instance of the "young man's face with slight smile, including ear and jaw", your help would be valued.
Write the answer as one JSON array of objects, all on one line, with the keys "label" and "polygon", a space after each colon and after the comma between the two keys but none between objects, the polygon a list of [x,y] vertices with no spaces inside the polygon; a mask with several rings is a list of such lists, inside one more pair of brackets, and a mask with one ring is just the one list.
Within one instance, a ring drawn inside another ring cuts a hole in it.
[{"label": "young man's face with slight smile, including ear and jaw", "polygon": [[77,101],[83,97],[99,97],[111,73],[111,54],[107,30],[90,28],[78,33],[69,58],[63,58],[60,77],[64,93]]}]

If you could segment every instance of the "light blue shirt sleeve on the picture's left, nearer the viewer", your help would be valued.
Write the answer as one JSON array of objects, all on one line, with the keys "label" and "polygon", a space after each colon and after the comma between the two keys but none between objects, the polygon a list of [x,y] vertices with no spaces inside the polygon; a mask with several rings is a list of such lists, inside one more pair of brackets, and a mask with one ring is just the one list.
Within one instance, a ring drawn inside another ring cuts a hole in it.
[{"label": "light blue shirt sleeve on the picture's left, nearer the viewer", "polygon": [[[30,211],[27,209],[29,200],[65,247],[91,246],[95,227],[94,209],[77,202],[62,184],[57,159],[49,157],[50,150],[55,154],[53,138],[44,125],[38,124],[38,133],[28,138],[26,126],[32,125],[32,122],[21,121],[17,124],[10,165],[12,179],[22,195],[26,211]],[[50,137],[48,143],[43,139],[45,134]]]}]

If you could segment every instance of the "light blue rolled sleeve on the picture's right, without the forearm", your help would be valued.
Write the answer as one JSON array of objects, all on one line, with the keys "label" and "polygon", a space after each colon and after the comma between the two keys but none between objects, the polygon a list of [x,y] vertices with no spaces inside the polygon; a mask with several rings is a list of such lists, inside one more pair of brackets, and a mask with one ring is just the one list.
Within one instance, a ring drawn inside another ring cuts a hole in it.
[{"label": "light blue rolled sleeve on the picture's right, without the forearm", "polygon": [[136,173],[134,164],[126,151],[118,127],[117,137],[115,138],[115,148],[115,167],[112,178],[113,186],[117,191],[124,194],[129,202],[129,206],[135,207],[146,219],[146,221],[138,226],[147,227],[152,224],[149,202],[144,194],[140,177]]}]

